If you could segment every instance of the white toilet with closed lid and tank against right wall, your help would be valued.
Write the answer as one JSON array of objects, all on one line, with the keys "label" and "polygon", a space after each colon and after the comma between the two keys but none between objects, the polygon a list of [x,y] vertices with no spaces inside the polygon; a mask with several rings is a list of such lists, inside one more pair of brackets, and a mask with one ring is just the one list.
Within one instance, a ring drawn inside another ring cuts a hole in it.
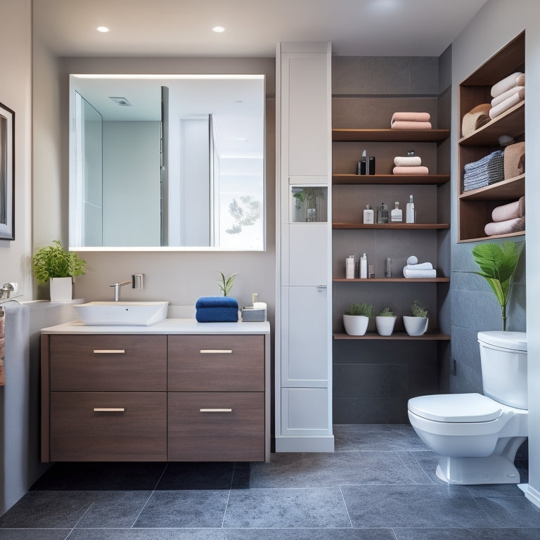
[{"label": "white toilet with closed lid and tank against right wall", "polygon": [[527,439],[527,335],[479,332],[482,394],[409,399],[409,420],[439,454],[449,484],[517,484],[515,453]]}]

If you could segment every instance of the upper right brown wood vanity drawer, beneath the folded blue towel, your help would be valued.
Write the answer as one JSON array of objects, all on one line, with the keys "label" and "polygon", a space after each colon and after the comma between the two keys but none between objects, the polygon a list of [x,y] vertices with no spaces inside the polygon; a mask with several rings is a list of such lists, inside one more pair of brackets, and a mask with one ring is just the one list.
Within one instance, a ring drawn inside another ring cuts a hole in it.
[{"label": "upper right brown wood vanity drawer, beneath the folded blue towel", "polygon": [[264,391],[264,335],[169,335],[169,391]]}]

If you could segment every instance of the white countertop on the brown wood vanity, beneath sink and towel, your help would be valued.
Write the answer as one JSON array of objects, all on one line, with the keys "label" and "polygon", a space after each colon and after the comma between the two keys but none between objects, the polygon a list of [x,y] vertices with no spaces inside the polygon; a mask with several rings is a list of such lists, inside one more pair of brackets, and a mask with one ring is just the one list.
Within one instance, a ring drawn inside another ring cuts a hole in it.
[{"label": "white countertop on the brown wood vanity, beneath sink and towel", "polygon": [[198,323],[195,319],[165,319],[150,326],[87,326],[82,321],[41,328],[42,334],[269,334],[270,323]]}]

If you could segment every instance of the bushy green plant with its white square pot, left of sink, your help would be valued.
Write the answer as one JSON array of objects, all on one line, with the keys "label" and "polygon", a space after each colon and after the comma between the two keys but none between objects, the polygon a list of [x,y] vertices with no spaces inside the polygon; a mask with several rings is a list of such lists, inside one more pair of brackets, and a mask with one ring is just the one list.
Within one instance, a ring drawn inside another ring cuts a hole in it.
[{"label": "bushy green plant with its white square pot, left of sink", "polygon": [[74,251],[66,251],[59,240],[53,240],[34,253],[34,276],[37,281],[49,281],[51,302],[68,302],[72,299],[72,278],[84,274],[86,261]]}]

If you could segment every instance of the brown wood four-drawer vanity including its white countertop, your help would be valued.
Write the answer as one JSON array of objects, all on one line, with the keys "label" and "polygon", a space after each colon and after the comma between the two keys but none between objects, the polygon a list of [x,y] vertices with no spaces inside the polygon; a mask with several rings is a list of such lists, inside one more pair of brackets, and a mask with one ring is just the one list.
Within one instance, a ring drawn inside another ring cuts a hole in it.
[{"label": "brown wood four-drawer vanity including its white countertop", "polygon": [[41,330],[41,461],[268,461],[270,326]]}]

